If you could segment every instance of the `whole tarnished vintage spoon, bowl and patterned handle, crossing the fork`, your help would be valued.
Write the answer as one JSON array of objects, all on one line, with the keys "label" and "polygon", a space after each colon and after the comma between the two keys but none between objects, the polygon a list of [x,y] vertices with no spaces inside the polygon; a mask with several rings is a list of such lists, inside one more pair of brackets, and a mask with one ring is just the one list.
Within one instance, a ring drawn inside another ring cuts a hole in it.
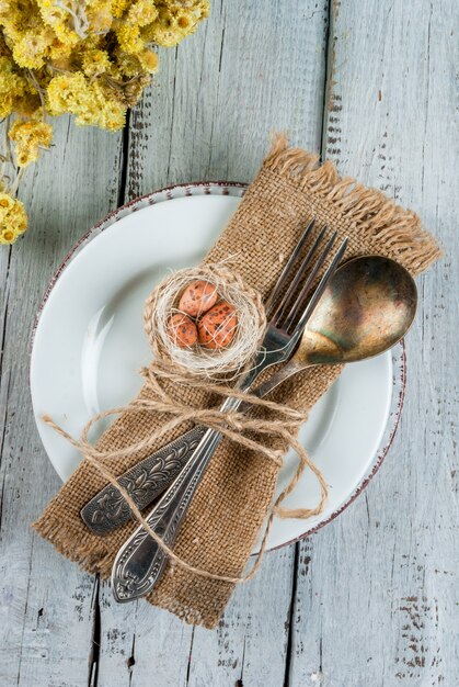
[{"label": "whole tarnished vintage spoon, bowl and patterned handle, crossing the fork", "polygon": [[[312,365],[354,362],[387,351],[406,334],[416,302],[416,285],[398,262],[379,256],[348,260],[333,275],[294,357],[253,393],[265,396]],[[168,488],[205,431],[196,425],[118,478],[138,508]],[[107,485],[83,507],[81,517],[95,534],[104,536],[129,520],[130,508]]]}]

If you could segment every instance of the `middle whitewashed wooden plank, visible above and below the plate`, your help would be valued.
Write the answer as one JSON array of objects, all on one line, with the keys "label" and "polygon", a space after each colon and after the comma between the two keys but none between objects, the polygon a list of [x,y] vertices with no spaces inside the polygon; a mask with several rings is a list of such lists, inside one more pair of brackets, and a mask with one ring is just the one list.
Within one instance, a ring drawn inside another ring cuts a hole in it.
[{"label": "middle whitewashed wooden plank, visible above and below the plate", "polygon": [[[161,53],[157,85],[131,113],[127,198],[193,180],[249,181],[272,131],[319,149],[326,16],[324,1],[278,1],[269,11],[264,3],[213,2],[209,21],[192,40]],[[311,54],[314,59],[305,58]],[[112,685],[115,675],[128,684],[133,644],[133,685],[150,684],[151,666],[161,687],[228,685],[241,676],[246,684],[262,684],[261,676],[276,684],[269,675],[282,684],[294,559],[291,547],[266,556],[218,630],[197,629],[193,640],[163,611],[149,613],[142,602],[119,611],[103,601],[99,684]],[[152,633],[160,621],[161,632]]]}]

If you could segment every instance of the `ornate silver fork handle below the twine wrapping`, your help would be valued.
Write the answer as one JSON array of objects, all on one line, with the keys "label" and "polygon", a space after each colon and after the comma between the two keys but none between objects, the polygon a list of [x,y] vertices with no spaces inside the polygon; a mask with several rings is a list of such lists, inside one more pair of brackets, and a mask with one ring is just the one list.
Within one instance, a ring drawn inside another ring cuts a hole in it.
[{"label": "ornate silver fork handle below the twine wrapping", "polygon": [[[220,432],[213,429],[206,431],[199,450],[195,451],[147,518],[150,527],[171,548],[175,543],[200,478],[221,439]],[[112,571],[115,599],[118,602],[131,601],[147,594],[160,578],[167,560],[163,550],[142,527],[139,527],[115,559]]]}]

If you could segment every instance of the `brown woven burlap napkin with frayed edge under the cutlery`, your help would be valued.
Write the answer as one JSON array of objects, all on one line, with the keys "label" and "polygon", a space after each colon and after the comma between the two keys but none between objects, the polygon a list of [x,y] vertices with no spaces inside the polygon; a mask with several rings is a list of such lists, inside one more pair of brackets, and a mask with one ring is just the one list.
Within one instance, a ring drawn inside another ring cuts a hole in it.
[{"label": "brown woven burlap napkin with frayed edge under the cutlery", "polygon": [[[319,166],[314,156],[289,148],[280,136],[205,262],[233,257],[244,282],[266,297],[312,217],[319,226],[326,225],[329,233],[348,237],[348,258],[381,255],[418,274],[439,256],[435,239],[413,212],[353,179],[341,179],[331,162]],[[272,398],[303,410],[306,417],[340,371],[338,365],[305,371],[285,382]],[[140,396],[148,397],[149,393],[145,386]],[[213,402],[190,387],[174,388],[174,394],[195,406]],[[135,444],[153,436],[168,419],[151,413],[122,415],[103,433],[97,448],[110,451]],[[188,428],[190,424],[176,428],[154,448]],[[139,451],[106,465],[118,475],[150,452]],[[180,531],[174,549],[177,556],[217,575],[241,575],[272,503],[277,474],[278,466],[256,451],[225,440]],[[117,550],[137,527],[129,522],[104,538],[88,530],[80,510],[105,484],[95,468],[81,463],[34,523],[64,555],[103,577],[110,576]],[[214,628],[232,589],[230,583],[199,577],[175,564],[169,565],[148,600],[187,622]]]}]

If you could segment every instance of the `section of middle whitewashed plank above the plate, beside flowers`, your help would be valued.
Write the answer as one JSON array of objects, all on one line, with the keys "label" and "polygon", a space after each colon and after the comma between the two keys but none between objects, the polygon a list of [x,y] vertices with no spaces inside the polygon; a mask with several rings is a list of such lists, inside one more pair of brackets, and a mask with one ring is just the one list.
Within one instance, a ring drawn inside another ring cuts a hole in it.
[{"label": "section of middle whitewashed plank above the plate, beside flowers", "polygon": [[157,86],[133,112],[128,196],[250,181],[274,131],[319,149],[326,5],[215,0],[191,40],[161,53]]}]

